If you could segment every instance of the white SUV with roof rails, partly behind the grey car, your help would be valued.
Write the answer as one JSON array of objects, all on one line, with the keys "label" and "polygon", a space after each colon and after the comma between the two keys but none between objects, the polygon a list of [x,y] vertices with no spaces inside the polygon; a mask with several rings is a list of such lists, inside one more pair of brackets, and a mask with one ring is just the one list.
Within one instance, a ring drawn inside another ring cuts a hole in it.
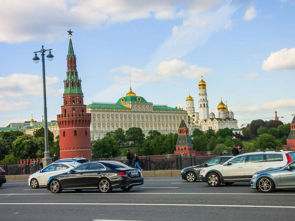
[{"label": "white SUV with roof rails, partly behind the grey car", "polygon": [[221,183],[232,185],[235,182],[250,182],[254,173],[281,167],[295,160],[293,151],[263,151],[237,155],[222,165],[202,169],[200,180],[210,187]]}]

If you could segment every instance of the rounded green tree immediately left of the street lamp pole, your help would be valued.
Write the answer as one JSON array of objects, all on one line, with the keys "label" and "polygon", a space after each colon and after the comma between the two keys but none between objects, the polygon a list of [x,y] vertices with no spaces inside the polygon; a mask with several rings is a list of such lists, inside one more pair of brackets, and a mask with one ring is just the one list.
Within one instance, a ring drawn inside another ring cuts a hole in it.
[{"label": "rounded green tree immediately left of the street lamp pole", "polygon": [[[30,135],[20,136],[16,138],[12,143],[13,154],[18,159],[37,158],[37,151],[39,149],[40,149],[40,140]],[[44,149],[43,149],[43,152],[44,152]]]}]

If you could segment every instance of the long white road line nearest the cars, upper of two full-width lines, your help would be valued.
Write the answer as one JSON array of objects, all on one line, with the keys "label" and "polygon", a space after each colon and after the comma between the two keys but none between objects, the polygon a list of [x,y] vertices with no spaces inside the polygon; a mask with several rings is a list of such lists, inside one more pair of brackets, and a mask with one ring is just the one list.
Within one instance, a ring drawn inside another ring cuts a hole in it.
[{"label": "long white road line nearest the cars, upper of two full-width lines", "polygon": [[[164,187],[167,188],[167,187]],[[269,196],[269,195],[295,195],[295,193],[1,193],[0,195],[261,195],[261,196]]]}]

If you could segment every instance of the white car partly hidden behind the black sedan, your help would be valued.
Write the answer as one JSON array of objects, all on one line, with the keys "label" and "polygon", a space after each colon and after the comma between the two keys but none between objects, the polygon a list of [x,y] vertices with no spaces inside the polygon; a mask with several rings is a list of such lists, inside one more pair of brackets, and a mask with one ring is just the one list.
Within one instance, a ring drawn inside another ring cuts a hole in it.
[{"label": "white car partly hidden behind the black sedan", "polygon": [[33,189],[37,189],[39,188],[39,186],[46,186],[47,180],[49,177],[58,175],[63,172],[67,172],[78,165],[80,165],[80,163],[73,163],[73,162],[53,163],[31,174],[28,180],[29,186],[31,186],[31,188]]}]

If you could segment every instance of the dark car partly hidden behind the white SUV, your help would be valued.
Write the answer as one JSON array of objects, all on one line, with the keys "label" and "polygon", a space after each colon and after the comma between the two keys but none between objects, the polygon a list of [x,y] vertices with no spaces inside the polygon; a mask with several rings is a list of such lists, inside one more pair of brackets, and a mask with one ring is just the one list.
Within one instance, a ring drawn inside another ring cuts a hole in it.
[{"label": "dark car partly hidden behind the white SUV", "polygon": [[186,180],[187,182],[196,182],[200,180],[200,171],[208,166],[213,166],[217,164],[224,164],[234,156],[222,156],[222,157],[215,157],[210,160],[207,160],[205,163],[197,166],[190,166],[186,167],[181,170],[181,179]]}]

